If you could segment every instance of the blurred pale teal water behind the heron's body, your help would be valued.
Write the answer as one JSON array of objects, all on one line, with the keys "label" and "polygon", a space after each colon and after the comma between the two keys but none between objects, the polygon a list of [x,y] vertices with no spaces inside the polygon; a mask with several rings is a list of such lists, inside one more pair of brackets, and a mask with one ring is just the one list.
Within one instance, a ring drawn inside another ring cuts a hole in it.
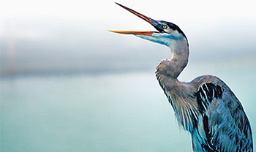
[{"label": "blurred pale teal water behind the heron's body", "polygon": [[[190,66],[181,80],[203,67]],[[255,71],[213,69],[241,100],[255,138]],[[1,79],[2,152],[170,150],[192,151],[190,137],[154,72]]]}]

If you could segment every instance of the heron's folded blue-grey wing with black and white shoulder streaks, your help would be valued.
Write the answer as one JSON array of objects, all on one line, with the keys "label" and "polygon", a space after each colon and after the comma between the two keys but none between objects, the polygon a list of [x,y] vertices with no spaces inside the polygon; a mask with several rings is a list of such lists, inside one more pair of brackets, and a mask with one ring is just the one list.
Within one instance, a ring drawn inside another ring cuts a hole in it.
[{"label": "heron's folded blue-grey wing with black and white shoulder streaks", "polygon": [[241,103],[224,85],[203,83],[197,90],[202,115],[193,145],[202,151],[252,151],[252,132]]}]

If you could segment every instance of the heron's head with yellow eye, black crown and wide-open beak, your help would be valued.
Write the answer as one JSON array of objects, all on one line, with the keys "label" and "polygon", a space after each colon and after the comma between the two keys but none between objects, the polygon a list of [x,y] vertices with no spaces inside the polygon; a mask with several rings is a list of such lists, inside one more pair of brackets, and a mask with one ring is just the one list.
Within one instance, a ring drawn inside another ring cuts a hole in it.
[{"label": "heron's head with yellow eye, black crown and wide-open beak", "polygon": [[157,31],[112,31],[112,32],[119,33],[119,34],[134,34],[137,37],[147,39],[151,42],[157,42],[159,44],[166,45],[171,49],[173,47],[172,46],[173,43],[175,43],[176,40],[182,40],[187,42],[187,37],[185,36],[184,32],[181,31],[181,28],[176,26],[176,24],[166,22],[163,20],[154,20],[138,12],[135,12],[134,10],[129,9],[128,7],[124,7],[121,4],[118,4],[118,5],[123,7],[124,9],[127,9],[129,12],[132,12],[132,14],[137,15],[139,18],[146,20],[146,22],[154,26],[154,28],[156,28]]}]

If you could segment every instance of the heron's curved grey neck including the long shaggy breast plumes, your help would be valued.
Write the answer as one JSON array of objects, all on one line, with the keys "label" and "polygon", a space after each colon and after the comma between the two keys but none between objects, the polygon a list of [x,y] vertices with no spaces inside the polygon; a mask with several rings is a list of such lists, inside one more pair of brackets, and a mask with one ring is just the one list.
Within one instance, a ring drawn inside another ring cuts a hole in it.
[{"label": "heron's curved grey neck including the long shaggy breast plumes", "polygon": [[157,66],[157,80],[170,104],[172,104],[178,123],[185,130],[191,132],[194,126],[192,120],[198,118],[196,102],[191,102],[193,101],[194,88],[189,83],[181,83],[177,80],[178,75],[188,63],[189,45],[187,39],[176,40],[170,49],[172,56],[160,61]]}]

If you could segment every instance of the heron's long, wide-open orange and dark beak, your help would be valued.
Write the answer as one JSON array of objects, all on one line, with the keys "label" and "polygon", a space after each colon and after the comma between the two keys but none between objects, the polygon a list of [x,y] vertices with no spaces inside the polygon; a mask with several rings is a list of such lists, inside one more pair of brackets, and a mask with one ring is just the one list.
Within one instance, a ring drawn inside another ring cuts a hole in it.
[{"label": "heron's long, wide-open orange and dark beak", "polygon": [[[116,3],[118,4],[118,3]],[[161,26],[159,26],[159,23],[157,22],[157,20],[153,20],[151,18],[148,18],[147,16],[145,15],[142,15],[132,9],[129,9],[128,7],[124,7],[123,5],[121,4],[118,4],[120,7],[123,7],[124,9],[127,9],[129,12],[132,12],[132,14],[138,16],[139,18],[142,18],[143,20],[145,20],[146,22],[150,23],[152,26],[154,26],[154,28],[157,29],[157,31],[159,32],[164,32],[162,30],[162,28],[160,28]],[[111,30],[109,30],[111,31]],[[112,31],[114,33],[119,33],[119,34],[135,34],[135,35],[152,35],[153,33],[156,33],[156,31]]]}]

